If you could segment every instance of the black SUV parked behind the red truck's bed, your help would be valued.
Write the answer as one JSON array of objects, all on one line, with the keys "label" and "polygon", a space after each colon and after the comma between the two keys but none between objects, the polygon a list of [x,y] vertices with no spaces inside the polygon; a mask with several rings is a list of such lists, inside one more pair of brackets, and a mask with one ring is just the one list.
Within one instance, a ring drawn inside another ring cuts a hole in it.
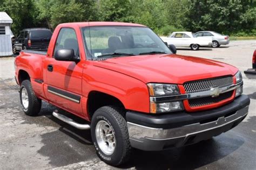
[{"label": "black SUV parked behind the red truck's bed", "polygon": [[46,28],[30,28],[19,32],[12,46],[15,54],[21,50],[47,51],[52,32]]}]

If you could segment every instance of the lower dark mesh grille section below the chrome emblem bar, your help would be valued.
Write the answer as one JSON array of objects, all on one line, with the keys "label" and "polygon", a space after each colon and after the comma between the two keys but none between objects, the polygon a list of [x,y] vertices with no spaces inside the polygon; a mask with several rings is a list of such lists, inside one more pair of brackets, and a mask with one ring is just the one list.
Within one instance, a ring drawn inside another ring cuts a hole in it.
[{"label": "lower dark mesh grille section below the chrome emblem bar", "polygon": [[188,104],[190,105],[190,107],[197,107],[197,106],[204,106],[204,105],[218,103],[221,100],[225,100],[225,99],[232,97],[233,92],[234,91],[232,90],[232,91],[229,91],[226,93],[222,93],[218,97],[208,96],[208,97],[202,97],[202,98],[197,98],[197,99],[189,99]]}]

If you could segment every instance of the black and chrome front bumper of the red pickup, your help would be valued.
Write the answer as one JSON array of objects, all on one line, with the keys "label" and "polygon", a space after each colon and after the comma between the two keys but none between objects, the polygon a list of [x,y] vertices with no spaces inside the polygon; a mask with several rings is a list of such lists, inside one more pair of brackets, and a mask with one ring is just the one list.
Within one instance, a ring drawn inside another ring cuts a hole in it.
[{"label": "black and chrome front bumper of the red pickup", "polygon": [[160,151],[194,144],[237,126],[247,115],[250,99],[242,95],[232,103],[198,113],[146,115],[127,112],[132,147]]}]

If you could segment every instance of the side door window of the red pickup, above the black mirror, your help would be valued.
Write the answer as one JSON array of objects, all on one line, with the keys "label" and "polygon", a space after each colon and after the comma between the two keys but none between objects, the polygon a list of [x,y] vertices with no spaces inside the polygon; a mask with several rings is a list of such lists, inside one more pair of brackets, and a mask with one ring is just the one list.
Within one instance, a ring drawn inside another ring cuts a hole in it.
[{"label": "side door window of the red pickup, above the black mirror", "polygon": [[59,49],[73,49],[76,56],[79,56],[79,48],[76,32],[70,28],[63,28],[59,31],[55,51]]}]

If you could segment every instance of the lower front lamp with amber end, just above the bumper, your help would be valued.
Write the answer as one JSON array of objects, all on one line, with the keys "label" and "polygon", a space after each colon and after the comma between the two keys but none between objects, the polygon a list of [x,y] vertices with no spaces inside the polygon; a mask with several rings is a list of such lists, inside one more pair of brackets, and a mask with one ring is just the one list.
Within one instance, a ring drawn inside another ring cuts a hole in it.
[{"label": "lower front lamp with amber end, just above the bumper", "polygon": [[164,113],[164,112],[174,112],[183,110],[182,101],[173,101],[165,103],[151,103],[150,112],[151,113]]}]

